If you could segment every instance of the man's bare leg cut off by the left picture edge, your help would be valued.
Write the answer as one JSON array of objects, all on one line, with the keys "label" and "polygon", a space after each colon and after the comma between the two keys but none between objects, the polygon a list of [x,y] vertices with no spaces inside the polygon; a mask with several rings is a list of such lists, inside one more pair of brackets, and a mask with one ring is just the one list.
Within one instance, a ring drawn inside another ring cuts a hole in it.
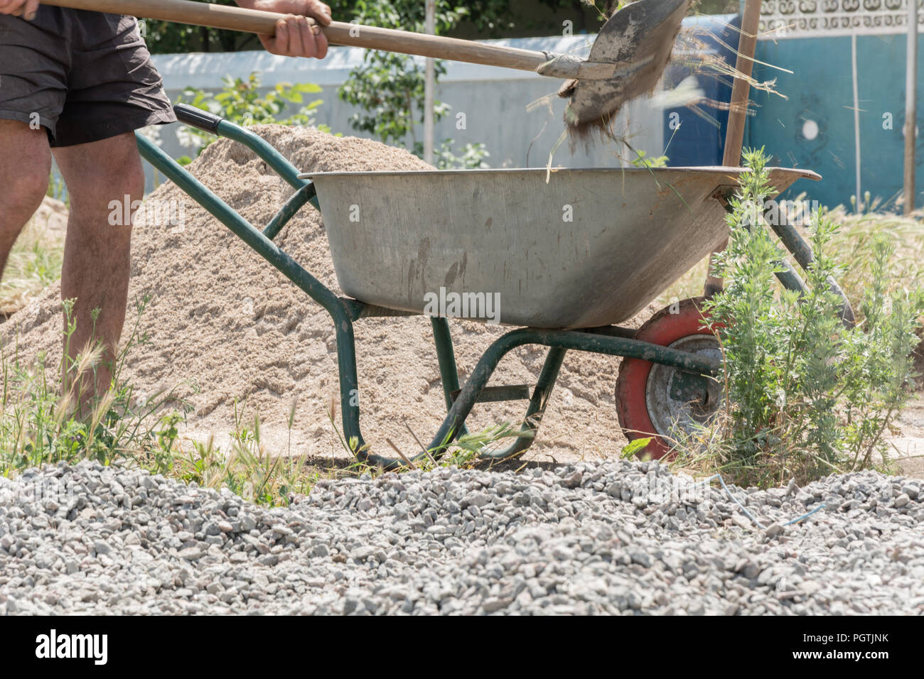
[{"label": "man's bare leg cut off by the left picture edge", "polygon": [[42,204],[51,167],[44,129],[0,120],[0,275],[19,232]]}]

